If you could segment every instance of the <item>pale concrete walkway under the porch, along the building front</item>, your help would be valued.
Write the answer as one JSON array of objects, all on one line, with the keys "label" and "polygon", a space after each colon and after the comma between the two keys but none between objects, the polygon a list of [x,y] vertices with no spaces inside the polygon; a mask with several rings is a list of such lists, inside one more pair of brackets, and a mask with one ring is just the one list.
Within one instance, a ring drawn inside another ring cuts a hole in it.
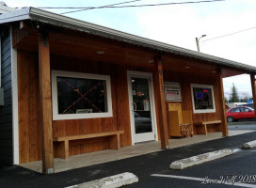
[{"label": "pale concrete walkway under the porch, along the building front", "polygon": [[[251,130],[245,131],[230,131],[230,136],[250,133]],[[192,144],[206,142],[209,140],[219,139],[222,133],[208,133],[208,135],[194,135],[193,137],[186,137],[182,139],[169,139],[169,146],[171,149],[184,147]],[[104,164],[121,159],[144,155],[161,150],[160,142],[148,142],[136,144],[134,146],[123,147],[120,150],[102,150],[97,152],[85,153],[80,155],[73,155],[67,160],[55,159],[55,172],[62,172],[75,168],[85,167],[93,164]],[[21,164],[21,166],[41,173],[41,162],[32,162],[28,164]]]}]

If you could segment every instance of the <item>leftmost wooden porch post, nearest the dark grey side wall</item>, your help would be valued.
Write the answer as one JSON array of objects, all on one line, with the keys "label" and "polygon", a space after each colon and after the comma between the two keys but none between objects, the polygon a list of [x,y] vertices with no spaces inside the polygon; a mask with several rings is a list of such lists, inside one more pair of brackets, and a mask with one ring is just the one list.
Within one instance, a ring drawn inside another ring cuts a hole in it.
[{"label": "leftmost wooden porch post, nearest the dark grey side wall", "polygon": [[52,90],[50,71],[50,48],[46,34],[39,35],[40,70],[40,122],[42,140],[42,172],[54,173],[54,149],[52,130]]}]

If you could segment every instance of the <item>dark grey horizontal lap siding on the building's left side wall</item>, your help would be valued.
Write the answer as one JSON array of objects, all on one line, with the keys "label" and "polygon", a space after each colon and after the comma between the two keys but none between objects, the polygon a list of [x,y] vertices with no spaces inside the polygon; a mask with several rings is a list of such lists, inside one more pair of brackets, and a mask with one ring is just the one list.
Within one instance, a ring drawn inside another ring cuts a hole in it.
[{"label": "dark grey horizontal lap siding on the building's left side wall", "polygon": [[4,106],[0,106],[0,162],[13,164],[12,153],[12,97],[11,97],[11,41],[9,28],[1,38],[1,83]]}]

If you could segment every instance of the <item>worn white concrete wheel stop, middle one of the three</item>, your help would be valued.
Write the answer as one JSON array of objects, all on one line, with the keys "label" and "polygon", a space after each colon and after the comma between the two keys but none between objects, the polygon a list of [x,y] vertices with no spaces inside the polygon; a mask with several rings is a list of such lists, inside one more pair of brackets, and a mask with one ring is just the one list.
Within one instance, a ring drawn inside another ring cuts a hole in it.
[{"label": "worn white concrete wheel stop, middle one of the three", "polygon": [[190,167],[197,164],[203,164],[205,162],[213,161],[227,155],[232,155],[232,149],[220,149],[213,152],[203,153],[197,156],[178,160],[169,164],[170,169],[182,170],[186,167]]}]

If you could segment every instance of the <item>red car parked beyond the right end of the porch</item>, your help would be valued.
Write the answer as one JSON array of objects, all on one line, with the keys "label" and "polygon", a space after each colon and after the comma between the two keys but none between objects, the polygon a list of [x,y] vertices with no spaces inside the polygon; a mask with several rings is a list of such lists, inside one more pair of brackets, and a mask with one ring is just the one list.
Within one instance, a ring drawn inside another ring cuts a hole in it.
[{"label": "red car parked beyond the right end of the porch", "polygon": [[255,113],[253,108],[247,106],[235,107],[226,113],[226,117],[228,122],[232,122],[241,118],[255,118]]}]

